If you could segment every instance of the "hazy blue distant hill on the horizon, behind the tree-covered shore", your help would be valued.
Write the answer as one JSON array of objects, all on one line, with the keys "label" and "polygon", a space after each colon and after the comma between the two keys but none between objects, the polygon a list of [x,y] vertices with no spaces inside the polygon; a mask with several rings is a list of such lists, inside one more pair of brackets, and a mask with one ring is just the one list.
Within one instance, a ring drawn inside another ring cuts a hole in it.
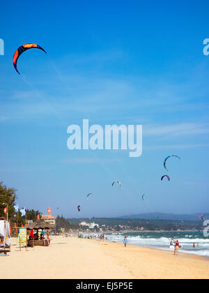
[{"label": "hazy blue distant hill on the horizon, behind the tree-covered shore", "polygon": [[205,215],[205,219],[209,219],[209,213],[192,213],[176,215],[174,213],[139,213],[134,215],[120,216],[118,218],[127,219],[145,219],[145,220],[201,220],[201,216]]}]

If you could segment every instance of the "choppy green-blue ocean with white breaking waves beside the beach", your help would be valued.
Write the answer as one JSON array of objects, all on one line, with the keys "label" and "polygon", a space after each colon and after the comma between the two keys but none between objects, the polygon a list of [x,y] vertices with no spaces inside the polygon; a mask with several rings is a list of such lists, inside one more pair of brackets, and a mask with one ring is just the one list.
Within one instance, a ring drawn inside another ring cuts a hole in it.
[{"label": "choppy green-blue ocean with white breaking waves beside the beach", "polygon": [[[179,252],[209,257],[209,236],[204,237],[203,232],[115,232],[105,234],[107,241],[118,243],[123,243],[125,235],[127,235],[127,245],[132,244],[170,251],[170,240],[173,238],[179,241],[180,246],[183,246],[179,249]],[[193,243],[195,243],[195,248]]]}]

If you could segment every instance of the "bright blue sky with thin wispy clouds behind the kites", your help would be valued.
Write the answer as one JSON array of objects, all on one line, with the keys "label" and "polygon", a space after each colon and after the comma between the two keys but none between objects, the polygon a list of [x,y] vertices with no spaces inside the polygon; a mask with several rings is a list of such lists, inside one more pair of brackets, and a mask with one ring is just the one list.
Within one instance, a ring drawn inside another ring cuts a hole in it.
[{"label": "bright blue sky with thin wispy clouds behind the kites", "polygon": [[[65,217],[78,204],[85,217],[208,212],[208,12],[208,1],[1,3],[0,179],[20,206],[55,216],[61,206]],[[24,43],[47,55],[26,52],[17,75]],[[82,119],[142,124],[142,156],[70,151],[67,128]],[[161,182],[171,153],[182,160]]]}]

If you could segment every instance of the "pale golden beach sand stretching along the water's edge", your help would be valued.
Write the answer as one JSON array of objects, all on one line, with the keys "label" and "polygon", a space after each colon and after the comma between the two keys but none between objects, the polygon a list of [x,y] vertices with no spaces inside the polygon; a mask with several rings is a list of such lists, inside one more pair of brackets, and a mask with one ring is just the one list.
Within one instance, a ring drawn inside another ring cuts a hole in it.
[{"label": "pale golden beach sand stretching along the water's edge", "polygon": [[1,279],[209,278],[209,259],[121,243],[52,236],[49,247],[20,248],[0,256]]}]

